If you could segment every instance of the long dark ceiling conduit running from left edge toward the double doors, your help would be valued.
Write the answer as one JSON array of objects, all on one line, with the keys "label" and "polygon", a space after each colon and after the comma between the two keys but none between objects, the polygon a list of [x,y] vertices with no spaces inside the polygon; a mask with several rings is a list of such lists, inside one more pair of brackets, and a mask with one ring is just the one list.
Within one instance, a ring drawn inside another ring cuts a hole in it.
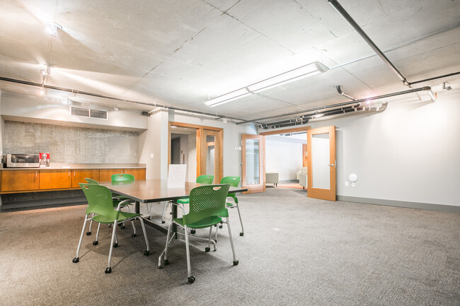
[{"label": "long dark ceiling conduit running from left edge toward the double doors", "polygon": [[[62,88],[62,87],[58,87],[58,86],[50,86],[50,85],[34,83],[34,82],[28,82],[28,81],[21,81],[21,80],[16,80],[15,78],[4,78],[3,76],[0,76],[0,81],[18,83],[18,84],[23,84],[23,85],[28,85],[28,86],[35,86],[35,87],[40,87],[40,88],[53,89],[53,90],[60,90],[60,91],[65,91],[67,93],[74,93],[74,94],[79,94],[79,95],[89,95],[91,97],[104,98],[104,99],[110,99],[110,100],[117,100],[117,101],[122,101],[122,102],[130,102],[130,103],[140,104],[140,105],[148,105],[148,106],[152,106],[152,107],[163,108],[163,109],[166,109],[166,110],[178,110],[178,111],[181,111],[181,112],[189,112],[189,113],[192,113],[192,114],[203,114],[203,115],[211,116],[211,117],[220,117],[220,118],[243,121],[243,119],[224,116],[224,115],[221,115],[221,114],[212,114],[212,113],[209,113],[209,112],[200,112],[200,111],[197,111],[197,110],[187,110],[187,109],[184,109],[184,108],[172,107],[172,106],[168,106],[168,105],[161,105],[161,104],[157,104],[157,103],[126,100],[126,99],[122,99],[122,98],[110,97],[108,95],[100,95],[98,93],[88,93],[87,91],[74,90],[74,89],[70,89],[70,88]],[[255,122],[255,123],[259,124],[260,122]]]}]

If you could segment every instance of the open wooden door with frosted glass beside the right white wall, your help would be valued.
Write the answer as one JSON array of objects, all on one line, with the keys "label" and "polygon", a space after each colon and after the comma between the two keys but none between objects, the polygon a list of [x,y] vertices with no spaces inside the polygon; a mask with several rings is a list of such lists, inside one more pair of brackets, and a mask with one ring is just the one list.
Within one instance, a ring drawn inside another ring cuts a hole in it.
[{"label": "open wooden door with frosted glass beside the right white wall", "polygon": [[307,131],[309,198],[336,200],[335,126]]}]

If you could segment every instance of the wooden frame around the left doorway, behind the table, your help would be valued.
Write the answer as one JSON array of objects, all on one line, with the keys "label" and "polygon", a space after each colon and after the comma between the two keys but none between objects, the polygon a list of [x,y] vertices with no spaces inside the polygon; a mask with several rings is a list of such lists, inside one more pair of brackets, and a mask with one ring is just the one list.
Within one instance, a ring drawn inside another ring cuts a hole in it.
[{"label": "wooden frame around the left doorway, behind the table", "polygon": [[196,130],[196,159],[197,159],[197,170],[196,174],[197,177],[201,175],[200,169],[201,169],[201,160],[200,160],[200,155],[201,155],[201,136],[203,134],[203,130],[207,129],[210,131],[218,131],[219,132],[219,177],[214,179],[214,182],[220,182],[224,175],[224,129],[221,127],[215,127],[215,126],[205,126],[205,125],[199,125],[199,124],[190,124],[190,123],[184,123],[184,122],[173,122],[170,121],[168,122],[168,165],[171,163],[171,126],[179,126],[179,127],[184,127],[188,129],[195,129]]}]

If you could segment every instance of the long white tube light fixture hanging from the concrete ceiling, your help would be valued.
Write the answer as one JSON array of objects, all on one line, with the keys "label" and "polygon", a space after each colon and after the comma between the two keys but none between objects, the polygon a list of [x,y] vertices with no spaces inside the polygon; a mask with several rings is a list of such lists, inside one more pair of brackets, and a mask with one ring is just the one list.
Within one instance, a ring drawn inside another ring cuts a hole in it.
[{"label": "long white tube light fixture hanging from the concrete ceiling", "polygon": [[287,83],[298,81],[301,78],[314,76],[315,74],[323,73],[328,70],[328,67],[324,66],[318,61],[314,61],[313,63],[306,64],[304,66],[289,70],[284,73],[277,74],[276,76],[266,78],[263,81],[253,83],[249,86],[240,88],[238,90],[231,91],[230,93],[219,95],[219,97],[206,101],[205,104],[209,107],[215,107],[227,102],[231,102],[246,97],[253,93],[260,93],[263,90],[268,90],[270,88],[282,86]]}]

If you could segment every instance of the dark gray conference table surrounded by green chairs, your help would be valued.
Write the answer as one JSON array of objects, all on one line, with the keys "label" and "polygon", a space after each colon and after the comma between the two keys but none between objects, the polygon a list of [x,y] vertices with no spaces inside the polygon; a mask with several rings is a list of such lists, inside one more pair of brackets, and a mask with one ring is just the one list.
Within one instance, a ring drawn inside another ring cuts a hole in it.
[{"label": "dark gray conference table surrounded by green chairs", "polygon": [[[202,184],[195,182],[185,182],[183,188],[168,188],[167,180],[135,180],[134,182],[101,182],[102,186],[108,187],[110,192],[126,196],[127,198],[136,201],[135,212],[140,212],[141,203],[152,203],[161,201],[177,201],[178,199],[186,199],[190,195],[190,191]],[[248,189],[241,187],[230,187],[229,192],[246,192]],[[173,218],[177,218],[177,206],[173,205]],[[166,228],[144,218],[146,225],[150,225],[162,233],[168,233]]]}]

